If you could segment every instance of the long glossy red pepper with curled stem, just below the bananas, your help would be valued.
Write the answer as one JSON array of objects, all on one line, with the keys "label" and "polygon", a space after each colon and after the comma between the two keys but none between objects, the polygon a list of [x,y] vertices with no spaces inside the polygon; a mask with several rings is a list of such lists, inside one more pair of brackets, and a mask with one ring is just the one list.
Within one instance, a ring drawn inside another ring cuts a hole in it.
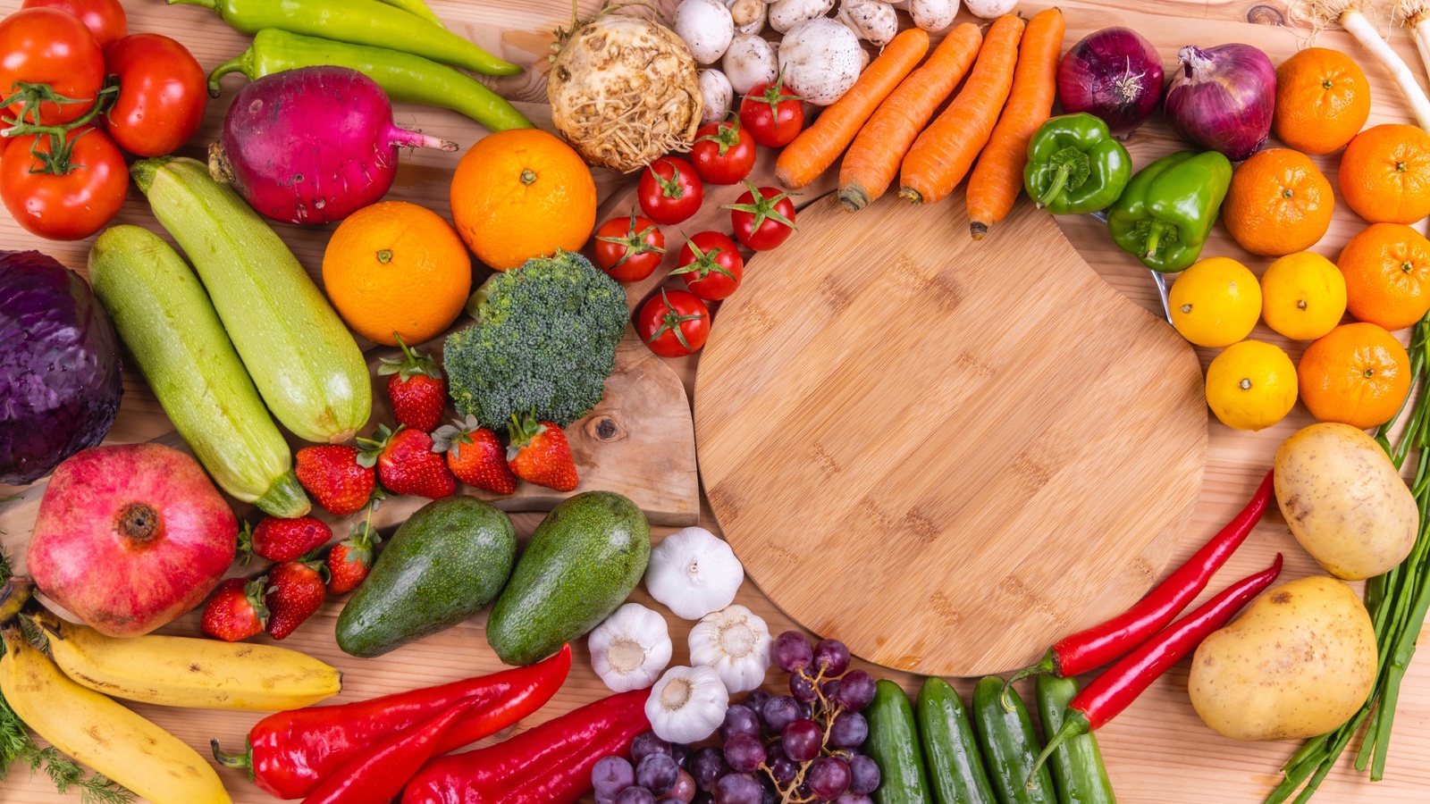
[{"label": "long glossy red pepper with curled stem, just below the bananas", "polygon": [[277,712],[249,730],[243,754],[223,754],[214,740],[213,758],[229,768],[247,768],[255,784],[279,798],[303,798],[383,737],[405,731],[458,701],[476,698],[479,702],[448,730],[433,754],[496,734],[549,701],[569,671],[571,645],[566,645],[531,667],[356,704]]}]

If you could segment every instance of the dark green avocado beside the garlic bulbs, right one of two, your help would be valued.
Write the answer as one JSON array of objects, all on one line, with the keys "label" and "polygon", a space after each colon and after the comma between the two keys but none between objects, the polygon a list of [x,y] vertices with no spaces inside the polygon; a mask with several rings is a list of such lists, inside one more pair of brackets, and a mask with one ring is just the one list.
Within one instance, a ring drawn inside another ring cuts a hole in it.
[{"label": "dark green avocado beside the garlic bulbs, right one of two", "polygon": [[629,499],[589,491],[562,501],[496,598],[486,641],[506,664],[549,657],[623,604],[649,558],[651,525]]}]

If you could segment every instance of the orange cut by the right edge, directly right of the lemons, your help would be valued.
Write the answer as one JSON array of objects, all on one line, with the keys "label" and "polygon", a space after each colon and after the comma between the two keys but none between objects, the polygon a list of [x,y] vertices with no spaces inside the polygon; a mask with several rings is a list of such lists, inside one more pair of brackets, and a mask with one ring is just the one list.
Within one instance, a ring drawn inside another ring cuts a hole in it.
[{"label": "orange cut by the right edge, directly right of the lemons", "polygon": [[1430,240],[1400,223],[1371,223],[1336,260],[1346,308],[1386,329],[1411,326],[1430,310]]}]

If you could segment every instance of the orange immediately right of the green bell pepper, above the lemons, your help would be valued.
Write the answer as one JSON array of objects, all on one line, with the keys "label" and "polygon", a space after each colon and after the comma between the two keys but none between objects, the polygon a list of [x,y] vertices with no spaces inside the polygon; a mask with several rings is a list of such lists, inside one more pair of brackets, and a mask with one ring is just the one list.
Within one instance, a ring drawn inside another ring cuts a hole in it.
[{"label": "orange immediately right of the green bell pepper, above the lemons", "polygon": [[1231,175],[1221,220],[1243,249],[1263,256],[1304,252],[1331,226],[1331,183],[1298,150],[1251,155]]}]

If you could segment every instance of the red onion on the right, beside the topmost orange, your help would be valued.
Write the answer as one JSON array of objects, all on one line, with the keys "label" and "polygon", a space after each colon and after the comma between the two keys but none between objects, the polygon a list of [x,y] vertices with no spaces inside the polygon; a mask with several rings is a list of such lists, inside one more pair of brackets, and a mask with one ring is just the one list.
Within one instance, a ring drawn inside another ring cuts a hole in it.
[{"label": "red onion on the right, beside the topmost orange", "polygon": [[1167,87],[1167,120],[1177,134],[1240,162],[1271,133],[1276,67],[1250,44],[1188,44]]}]

